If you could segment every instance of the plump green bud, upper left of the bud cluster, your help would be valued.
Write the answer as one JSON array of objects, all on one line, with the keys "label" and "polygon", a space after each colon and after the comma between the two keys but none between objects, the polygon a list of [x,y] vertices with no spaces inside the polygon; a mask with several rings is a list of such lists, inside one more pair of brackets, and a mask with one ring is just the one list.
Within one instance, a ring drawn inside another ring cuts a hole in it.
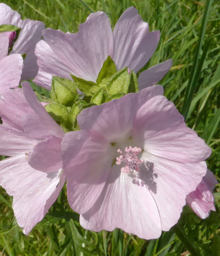
[{"label": "plump green bud, upper left of the bud cluster", "polygon": [[51,86],[51,99],[64,106],[72,106],[78,95],[74,81],[53,77]]}]

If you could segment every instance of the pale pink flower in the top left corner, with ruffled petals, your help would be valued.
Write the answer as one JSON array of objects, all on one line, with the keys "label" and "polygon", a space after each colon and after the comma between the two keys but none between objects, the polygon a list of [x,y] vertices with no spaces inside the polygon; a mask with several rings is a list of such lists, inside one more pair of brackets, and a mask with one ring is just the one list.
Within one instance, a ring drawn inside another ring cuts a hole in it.
[{"label": "pale pink flower in the top left corner, with ruffled petals", "polygon": [[45,28],[45,25],[41,21],[21,20],[18,12],[15,12],[6,4],[0,3],[0,25],[3,24],[11,24],[21,28],[18,39],[15,41],[10,54],[26,54],[21,79],[34,78],[38,72],[37,58],[34,50],[36,43],[41,39],[42,30]]}]

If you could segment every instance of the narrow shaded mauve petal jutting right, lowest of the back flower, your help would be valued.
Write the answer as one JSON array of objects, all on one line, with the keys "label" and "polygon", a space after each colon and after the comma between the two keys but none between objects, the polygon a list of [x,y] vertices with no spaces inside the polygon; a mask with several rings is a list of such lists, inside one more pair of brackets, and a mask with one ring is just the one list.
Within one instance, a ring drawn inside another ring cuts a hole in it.
[{"label": "narrow shaded mauve petal jutting right, lowest of the back flower", "polygon": [[160,81],[172,67],[172,59],[161,62],[140,73],[138,78],[139,89],[142,90],[147,86],[152,86]]}]

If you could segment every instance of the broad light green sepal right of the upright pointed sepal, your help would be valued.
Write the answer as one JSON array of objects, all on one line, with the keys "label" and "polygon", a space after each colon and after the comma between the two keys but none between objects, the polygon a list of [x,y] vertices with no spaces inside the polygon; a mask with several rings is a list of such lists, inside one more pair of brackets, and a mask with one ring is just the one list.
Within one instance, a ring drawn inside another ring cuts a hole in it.
[{"label": "broad light green sepal right of the upright pointed sepal", "polygon": [[107,92],[109,95],[115,95],[120,92],[124,94],[128,93],[130,75],[128,73],[128,68],[125,67],[118,71],[111,78],[111,81],[107,85]]}]

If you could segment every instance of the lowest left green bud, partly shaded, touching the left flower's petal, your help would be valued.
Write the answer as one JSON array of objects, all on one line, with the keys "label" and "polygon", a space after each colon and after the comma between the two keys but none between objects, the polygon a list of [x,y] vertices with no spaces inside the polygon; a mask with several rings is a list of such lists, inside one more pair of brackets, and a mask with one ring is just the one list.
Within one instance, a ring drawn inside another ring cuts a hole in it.
[{"label": "lowest left green bud, partly shaded, touching the left flower's petal", "polygon": [[65,127],[69,128],[70,121],[69,121],[69,111],[67,108],[58,103],[52,103],[45,106],[46,111],[48,114],[58,123],[64,124]]}]

